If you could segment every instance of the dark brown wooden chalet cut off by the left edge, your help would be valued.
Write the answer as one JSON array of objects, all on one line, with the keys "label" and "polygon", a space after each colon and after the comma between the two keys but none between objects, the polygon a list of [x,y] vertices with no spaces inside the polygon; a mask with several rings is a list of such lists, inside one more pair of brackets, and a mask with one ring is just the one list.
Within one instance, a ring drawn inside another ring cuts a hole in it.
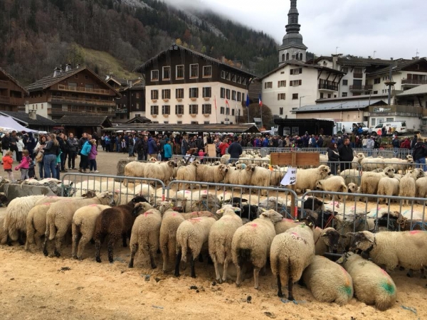
[{"label": "dark brown wooden chalet cut off by the left edge", "polygon": [[24,105],[28,91],[6,70],[0,68],[0,110],[18,111]]}]

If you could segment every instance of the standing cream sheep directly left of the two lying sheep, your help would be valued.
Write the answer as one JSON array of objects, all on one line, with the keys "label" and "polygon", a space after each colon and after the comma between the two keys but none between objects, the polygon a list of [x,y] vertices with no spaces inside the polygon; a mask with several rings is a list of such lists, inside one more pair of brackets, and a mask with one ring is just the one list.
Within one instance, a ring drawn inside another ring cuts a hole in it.
[{"label": "standing cream sheep directly left of the two lying sheep", "polygon": [[293,300],[292,286],[315,257],[313,230],[298,225],[276,235],[270,248],[270,266],[278,279],[278,297],[283,297],[282,282],[288,283],[288,299]]}]

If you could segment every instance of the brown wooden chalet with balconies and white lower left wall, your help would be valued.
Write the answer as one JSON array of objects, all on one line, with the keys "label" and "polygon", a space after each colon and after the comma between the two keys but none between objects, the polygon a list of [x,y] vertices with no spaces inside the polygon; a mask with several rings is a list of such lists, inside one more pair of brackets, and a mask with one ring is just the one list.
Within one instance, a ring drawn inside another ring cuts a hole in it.
[{"label": "brown wooden chalet with balconies and white lower left wall", "polygon": [[53,75],[38,80],[29,92],[26,112],[36,110],[48,119],[64,115],[105,115],[115,117],[115,97],[120,93],[89,68],[56,68]]}]

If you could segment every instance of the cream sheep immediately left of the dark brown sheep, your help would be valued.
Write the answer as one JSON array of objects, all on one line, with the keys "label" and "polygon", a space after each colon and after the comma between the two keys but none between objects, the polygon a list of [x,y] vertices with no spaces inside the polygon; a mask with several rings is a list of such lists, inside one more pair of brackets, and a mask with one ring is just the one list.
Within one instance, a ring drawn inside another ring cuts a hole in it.
[{"label": "cream sheep immediately left of the dark brown sheep", "polygon": [[98,215],[110,206],[92,204],[75,211],[71,230],[73,233],[73,249],[71,257],[83,260],[83,250],[95,232],[95,221]]}]

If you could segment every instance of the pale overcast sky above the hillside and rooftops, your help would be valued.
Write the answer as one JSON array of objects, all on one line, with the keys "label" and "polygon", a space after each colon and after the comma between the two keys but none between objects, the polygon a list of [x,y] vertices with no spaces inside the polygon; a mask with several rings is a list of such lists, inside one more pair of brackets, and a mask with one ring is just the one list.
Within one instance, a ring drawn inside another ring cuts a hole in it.
[{"label": "pale overcast sky above the hillside and rooftops", "polygon": [[[209,7],[233,21],[262,30],[282,43],[289,0],[167,0]],[[316,55],[338,53],[375,58],[427,56],[425,0],[298,0],[300,33]]]}]

